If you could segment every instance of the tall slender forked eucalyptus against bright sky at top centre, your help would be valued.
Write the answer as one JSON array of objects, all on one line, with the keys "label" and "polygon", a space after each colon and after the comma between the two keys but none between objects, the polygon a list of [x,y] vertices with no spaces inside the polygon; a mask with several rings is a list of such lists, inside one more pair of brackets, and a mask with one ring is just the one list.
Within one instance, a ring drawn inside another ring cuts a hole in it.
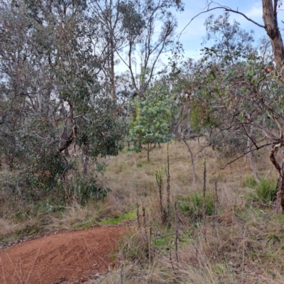
[{"label": "tall slender forked eucalyptus against bright sky at top centre", "polygon": [[153,77],[161,72],[157,69],[160,56],[173,50],[177,21],[171,12],[175,6],[171,0],[136,0],[132,3],[121,8],[121,11],[131,13],[124,12],[126,48],[118,55],[128,67],[133,87],[141,98]]}]

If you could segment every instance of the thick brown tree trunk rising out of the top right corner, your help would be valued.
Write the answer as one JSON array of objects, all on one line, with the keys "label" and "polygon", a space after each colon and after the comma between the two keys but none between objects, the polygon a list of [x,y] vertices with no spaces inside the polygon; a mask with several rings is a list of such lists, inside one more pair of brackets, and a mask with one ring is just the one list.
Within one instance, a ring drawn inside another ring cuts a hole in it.
[{"label": "thick brown tree trunk rising out of the top right corner", "polygon": [[278,0],[262,0],[262,5],[263,23],[266,28],[266,33],[271,39],[275,63],[277,67],[282,67],[284,60],[284,46],[277,21]]}]

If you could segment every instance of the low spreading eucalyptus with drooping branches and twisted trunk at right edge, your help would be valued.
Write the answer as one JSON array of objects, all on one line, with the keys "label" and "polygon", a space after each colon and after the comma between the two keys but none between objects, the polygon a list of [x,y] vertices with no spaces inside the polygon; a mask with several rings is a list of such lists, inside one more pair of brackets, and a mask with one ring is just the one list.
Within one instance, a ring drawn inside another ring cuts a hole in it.
[{"label": "low spreading eucalyptus with drooping branches and twisted trunk at right edge", "polygon": [[[234,138],[231,149],[239,155],[229,163],[269,146],[267,154],[279,174],[274,206],[283,212],[284,160],[276,153],[284,145],[284,101],[283,80],[277,70],[258,57],[237,62],[226,70],[208,64],[192,80],[194,85],[192,113],[198,115],[200,125],[214,131],[212,143],[219,141],[224,151],[223,137]],[[254,175],[258,178],[257,173]]]}]

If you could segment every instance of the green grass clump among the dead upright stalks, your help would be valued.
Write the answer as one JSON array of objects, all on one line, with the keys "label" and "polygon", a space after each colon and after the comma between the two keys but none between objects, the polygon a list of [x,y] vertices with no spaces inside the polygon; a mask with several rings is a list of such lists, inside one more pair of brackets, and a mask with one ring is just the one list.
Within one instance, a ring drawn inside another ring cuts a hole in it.
[{"label": "green grass clump among the dead upright stalks", "polygon": [[[203,192],[202,190],[195,192],[193,195],[182,197],[178,207],[182,212],[189,215],[194,219],[202,217],[202,205],[203,205]],[[207,215],[214,214],[214,195],[207,192],[205,197],[205,213]]]}]

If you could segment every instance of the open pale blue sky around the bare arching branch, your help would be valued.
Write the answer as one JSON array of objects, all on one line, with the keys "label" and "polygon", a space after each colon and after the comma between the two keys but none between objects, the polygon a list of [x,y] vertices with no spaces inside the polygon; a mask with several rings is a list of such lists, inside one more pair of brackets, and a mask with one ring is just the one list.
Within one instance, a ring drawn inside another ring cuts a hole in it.
[{"label": "open pale blue sky around the bare arching branch", "polygon": [[[194,16],[202,11],[206,11],[205,0],[184,0],[184,3],[185,11],[183,11],[182,13],[175,12],[175,15],[178,18],[178,33],[180,33],[182,29],[185,28],[187,23],[189,23]],[[256,21],[257,23],[263,25],[261,1],[219,0],[218,3],[222,6],[229,6],[234,10],[238,9],[238,11],[246,14],[246,16],[251,18],[253,21]],[[200,57],[200,49],[202,48],[201,43],[203,41],[202,38],[206,35],[204,21],[212,13],[214,15],[220,15],[224,13],[224,11],[222,9],[216,9],[212,12],[202,13],[200,16],[197,16],[197,18],[195,18],[180,35],[180,42],[182,43],[185,50],[185,58],[198,59]],[[259,40],[261,36],[266,35],[264,28],[260,28],[254,23],[247,21],[246,18],[239,14],[231,13],[230,18],[231,21],[235,19],[236,21],[241,23],[241,28],[245,29],[246,31],[253,30],[255,32],[255,41]]]}]

